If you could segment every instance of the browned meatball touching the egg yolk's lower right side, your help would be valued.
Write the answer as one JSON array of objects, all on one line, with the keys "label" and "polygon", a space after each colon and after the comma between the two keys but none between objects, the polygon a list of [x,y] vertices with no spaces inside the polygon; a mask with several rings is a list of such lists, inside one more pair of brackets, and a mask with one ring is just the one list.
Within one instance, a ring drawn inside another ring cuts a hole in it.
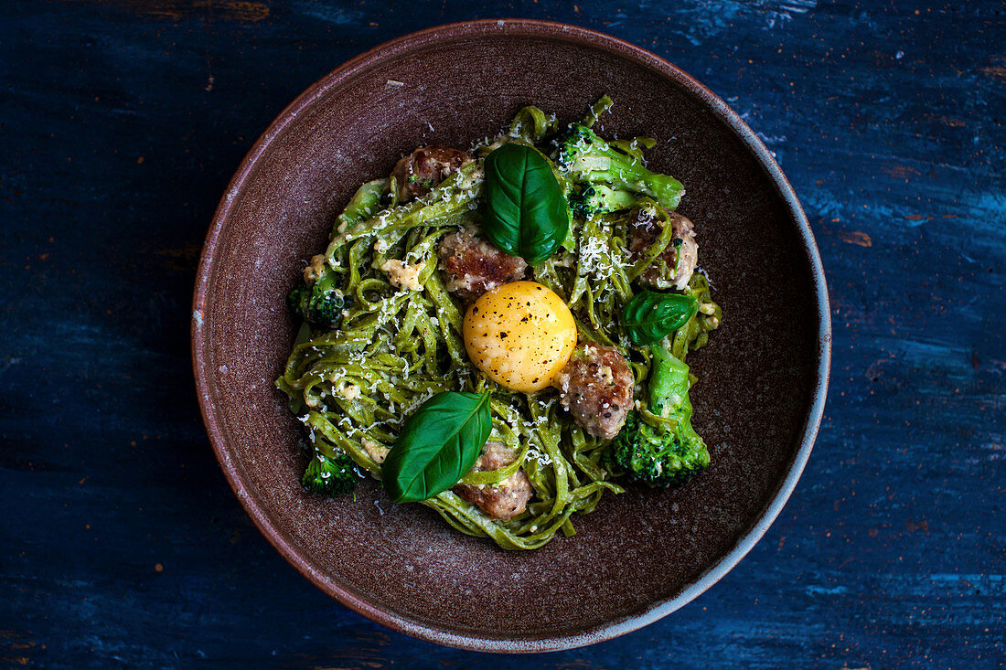
[{"label": "browned meatball touching the egg yolk's lower right side", "polygon": [[633,407],[629,361],[615,347],[584,344],[555,377],[559,401],[591,435],[611,440]]}]

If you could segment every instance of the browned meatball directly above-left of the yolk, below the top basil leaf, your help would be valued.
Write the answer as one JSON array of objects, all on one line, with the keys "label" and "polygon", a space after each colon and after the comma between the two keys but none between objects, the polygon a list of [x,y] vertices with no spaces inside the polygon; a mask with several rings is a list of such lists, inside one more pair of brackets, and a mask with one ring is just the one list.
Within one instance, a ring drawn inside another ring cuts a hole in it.
[{"label": "browned meatball directly above-left of the yolk, below the top basil leaf", "polygon": [[473,227],[444,237],[437,256],[447,274],[447,290],[464,301],[524,279],[527,273],[524,259],[499,250]]}]

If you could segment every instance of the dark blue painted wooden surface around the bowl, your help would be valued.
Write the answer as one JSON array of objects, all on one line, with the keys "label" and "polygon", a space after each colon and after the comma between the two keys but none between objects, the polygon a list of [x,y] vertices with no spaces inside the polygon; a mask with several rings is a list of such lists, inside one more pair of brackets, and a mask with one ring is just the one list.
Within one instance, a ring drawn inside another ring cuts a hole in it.
[{"label": "dark blue painted wooden surface around the bowl", "polygon": [[[0,665],[996,667],[1006,648],[1006,9],[995,0],[6,2]],[[831,288],[796,494],[698,601],[535,658],[391,633],[301,577],[217,468],[189,365],[203,235],[303,89],[521,16],[680,65],[776,152]]]}]

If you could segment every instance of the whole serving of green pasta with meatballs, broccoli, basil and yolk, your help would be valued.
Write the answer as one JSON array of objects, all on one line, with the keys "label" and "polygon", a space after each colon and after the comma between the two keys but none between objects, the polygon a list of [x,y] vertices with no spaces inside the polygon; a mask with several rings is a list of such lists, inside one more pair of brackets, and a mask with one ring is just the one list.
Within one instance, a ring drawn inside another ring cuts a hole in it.
[{"label": "whole serving of green pasta with meatballs, broccoli, basil and yolk", "polygon": [[624,483],[709,465],[685,358],[720,323],[684,187],[649,138],[535,107],[470,150],[426,146],[364,183],[291,293],[277,386],[305,425],[302,483],[381,480],[504,549],[574,533]]}]

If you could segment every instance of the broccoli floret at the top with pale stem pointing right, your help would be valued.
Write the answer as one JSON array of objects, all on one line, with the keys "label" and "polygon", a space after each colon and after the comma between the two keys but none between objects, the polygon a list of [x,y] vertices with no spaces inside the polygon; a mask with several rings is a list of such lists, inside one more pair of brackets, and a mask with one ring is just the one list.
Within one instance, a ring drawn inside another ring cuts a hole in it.
[{"label": "broccoli floret at the top with pale stem pointing right", "polygon": [[649,195],[667,209],[677,207],[685,192],[674,177],[651,172],[638,157],[616,149],[581,124],[569,125],[556,143],[553,160],[573,181]]}]

